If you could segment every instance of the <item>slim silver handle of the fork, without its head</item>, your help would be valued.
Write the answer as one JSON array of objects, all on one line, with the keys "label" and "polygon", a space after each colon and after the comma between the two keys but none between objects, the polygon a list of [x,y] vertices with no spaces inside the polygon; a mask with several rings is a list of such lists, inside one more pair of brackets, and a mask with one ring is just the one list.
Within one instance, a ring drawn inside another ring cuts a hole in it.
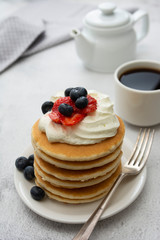
[{"label": "slim silver handle of the fork, without its head", "polygon": [[125,173],[121,173],[117,178],[116,182],[114,183],[113,187],[109,191],[109,193],[105,196],[103,201],[99,204],[97,209],[93,212],[90,216],[88,221],[82,226],[78,234],[73,238],[73,240],[87,240],[89,239],[92,231],[94,230],[98,220],[100,219],[102,213],[104,212],[108,202],[110,201],[112,195],[114,194],[115,190],[119,186],[120,182],[126,176]]}]

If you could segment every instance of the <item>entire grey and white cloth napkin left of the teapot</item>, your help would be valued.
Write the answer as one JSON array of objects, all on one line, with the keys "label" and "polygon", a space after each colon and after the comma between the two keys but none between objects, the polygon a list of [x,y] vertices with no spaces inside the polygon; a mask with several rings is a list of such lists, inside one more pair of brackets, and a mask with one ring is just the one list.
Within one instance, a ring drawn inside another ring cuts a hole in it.
[{"label": "entire grey and white cloth napkin left of the teapot", "polygon": [[70,40],[72,28],[81,28],[93,8],[67,0],[37,0],[16,11],[0,23],[0,72],[20,57]]}]

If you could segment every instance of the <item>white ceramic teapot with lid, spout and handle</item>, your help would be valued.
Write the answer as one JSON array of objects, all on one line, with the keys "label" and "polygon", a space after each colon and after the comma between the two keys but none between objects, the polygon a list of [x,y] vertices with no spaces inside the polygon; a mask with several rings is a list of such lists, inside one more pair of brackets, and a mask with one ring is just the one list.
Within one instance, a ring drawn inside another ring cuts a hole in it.
[{"label": "white ceramic teapot with lid, spout and handle", "polygon": [[[142,20],[141,28],[134,29]],[[137,10],[134,14],[119,9],[112,2],[99,5],[83,20],[82,31],[73,29],[76,50],[84,65],[98,72],[113,72],[119,65],[136,58],[137,42],[149,27],[148,14]]]}]

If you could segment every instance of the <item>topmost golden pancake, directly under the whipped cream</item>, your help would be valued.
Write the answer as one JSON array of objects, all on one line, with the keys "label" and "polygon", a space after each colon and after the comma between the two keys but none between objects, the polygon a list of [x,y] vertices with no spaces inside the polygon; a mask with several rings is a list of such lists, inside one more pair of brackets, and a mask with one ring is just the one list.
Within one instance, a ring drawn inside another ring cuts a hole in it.
[{"label": "topmost golden pancake, directly under the whipped cream", "polygon": [[95,160],[114,152],[121,145],[125,133],[123,121],[118,117],[120,126],[114,137],[90,145],[70,145],[66,143],[50,143],[45,135],[38,128],[39,120],[32,127],[32,142],[37,149],[45,154],[68,161]]}]

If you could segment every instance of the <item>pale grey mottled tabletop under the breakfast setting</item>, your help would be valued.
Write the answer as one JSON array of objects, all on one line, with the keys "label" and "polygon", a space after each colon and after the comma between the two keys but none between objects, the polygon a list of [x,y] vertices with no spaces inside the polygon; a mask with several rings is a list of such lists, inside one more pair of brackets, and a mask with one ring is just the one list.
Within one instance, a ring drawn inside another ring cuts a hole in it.
[{"label": "pale grey mottled tabletop under the breakfast setting", "polygon": [[[27,2],[0,0],[0,18]],[[115,2],[133,7],[131,1]],[[160,61],[160,2],[136,0],[134,6],[150,15],[150,31],[138,45],[137,59]],[[114,102],[113,74],[85,69],[76,55],[74,41],[21,59],[0,75],[0,240],[67,240],[80,229],[81,225],[50,221],[31,211],[17,194],[13,176],[15,159],[31,144],[31,127],[42,114],[41,104],[60,89],[79,85],[107,93]],[[138,127],[125,125],[126,137],[134,142]],[[160,239],[160,125],[155,130],[143,191],[125,210],[100,221],[91,239]]]}]

